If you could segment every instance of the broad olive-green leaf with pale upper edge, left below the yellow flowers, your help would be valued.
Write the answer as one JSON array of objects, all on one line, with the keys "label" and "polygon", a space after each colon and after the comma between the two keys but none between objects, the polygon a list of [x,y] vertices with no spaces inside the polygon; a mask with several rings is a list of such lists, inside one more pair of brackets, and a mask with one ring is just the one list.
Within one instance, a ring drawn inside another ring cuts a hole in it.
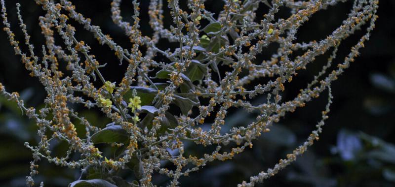
[{"label": "broad olive-green leaf with pale upper edge, left below the yellow flowers", "polygon": [[120,125],[111,125],[94,133],[90,137],[90,140],[94,144],[114,142],[127,143],[129,134]]}]

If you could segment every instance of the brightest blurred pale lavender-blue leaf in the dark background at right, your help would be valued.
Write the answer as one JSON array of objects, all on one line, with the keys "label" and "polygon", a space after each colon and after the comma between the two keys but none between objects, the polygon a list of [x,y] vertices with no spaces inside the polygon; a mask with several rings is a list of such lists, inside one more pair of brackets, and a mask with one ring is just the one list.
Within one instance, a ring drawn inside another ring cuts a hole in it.
[{"label": "brightest blurred pale lavender-blue leaf in the dark background at right", "polygon": [[336,148],[342,159],[349,161],[362,149],[362,142],[356,133],[341,129],[337,134]]}]

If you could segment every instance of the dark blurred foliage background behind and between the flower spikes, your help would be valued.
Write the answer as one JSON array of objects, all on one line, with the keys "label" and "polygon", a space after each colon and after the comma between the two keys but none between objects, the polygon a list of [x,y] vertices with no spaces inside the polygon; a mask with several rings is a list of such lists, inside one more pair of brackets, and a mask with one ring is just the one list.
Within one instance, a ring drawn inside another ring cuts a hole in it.
[{"label": "dark blurred foliage background behind and between the flower spikes", "polygon": [[[22,16],[32,35],[36,54],[40,56],[43,36],[40,35],[38,17],[44,15],[40,6],[33,0],[6,0],[8,20],[17,39],[24,41],[16,20],[16,2],[21,3]],[[123,32],[113,24],[110,12],[110,0],[76,0],[77,11],[92,19],[92,24],[101,26],[103,33],[110,34],[124,48],[130,44]],[[183,4],[183,3],[182,3]],[[151,35],[148,25],[148,0],[141,2],[141,30]],[[206,8],[218,13],[223,7],[220,0],[207,0]],[[347,18],[352,2],[339,3],[327,10],[317,12],[297,34],[297,41],[311,41],[325,38],[340,26]],[[185,8],[184,8],[185,9]],[[267,11],[263,3],[257,17]],[[130,0],[122,2],[122,16],[132,21],[132,5]],[[370,40],[361,55],[351,67],[332,85],[334,102],[329,119],[324,126],[320,139],[309,151],[297,159],[278,175],[265,181],[266,186],[288,187],[391,187],[395,185],[395,1],[381,0],[379,4],[376,29],[372,31]],[[171,24],[169,10],[164,5],[165,26]],[[286,18],[289,13],[285,8],[279,17]],[[103,75],[119,82],[126,63],[118,65],[118,60],[107,46],[100,46],[97,40],[87,31],[83,31],[75,22],[76,37],[84,40],[92,48],[92,54],[98,61],[108,63],[102,71]],[[204,24],[204,22],[203,22]],[[363,29],[366,27],[363,27]],[[339,48],[336,63],[342,62],[365,31],[357,31],[346,39]],[[60,40],[57,40],[58,42]],[[22,43],[22,42],[21,42]],[[41,106],[46,94],[37,78],[29,76],[20,59],[14,55],[4,31],[0,32],[0,82],[8,92],[19,92],[25,98],[27,106]],[[59,44],[59,43],[58,43]],[[21,45],[26,51],[26,46]],[[158,47],[174,49],[176,43],[168,44],[161,40]],[[269,48],[257,61],[268,59]],[[291,83],[285,85],[284,100],[292,99],[300,89],[326,63],[328,54],[317,58],[316,62],[300,71]],[[62,63],[61,63],[62,64]],[[66,63],[63,63],[65,65]],[[99,85],[100,86],[100,85]],[[314,129],[324,109],[326,94],[307,104],[305,108],[286,115],[279,124],[272,127],[271,132],[254,142],[254,148],[238,155],[232,161],[213,162],[188,178],[182,178],[182,186],[236,186],[249,176],[256,175],[268,167],[273,167],[279,158],[283,158],[292,149],[302,143]],[[83,110],[80,113],[92,124],[104,126],[108,120],[95,110]],[[234,115],[236,114],[236,115]],[[244,125],[254,120],[253,114],[233,110],[227,118],[227,125]],[[0,186],[25,186],[25,176],[29,174],[31,152],[23,146],[28,141],[33,145],[38,138],[35,124],[21,115],[15,104],[0,97]],[[65,145],[53,145],[55,152],[67,149]],[[40,162],[40,175],[35,180],[44,181],[46,186],[67,186],[79,176],[78,170],[61,168]],[[155,178],[155,177],[154,177]],[[128,180],[131,180],[127,178]],[[154,184],[165,184],[158,178]],[[258,185],[259,186],[259,185]]]}]

